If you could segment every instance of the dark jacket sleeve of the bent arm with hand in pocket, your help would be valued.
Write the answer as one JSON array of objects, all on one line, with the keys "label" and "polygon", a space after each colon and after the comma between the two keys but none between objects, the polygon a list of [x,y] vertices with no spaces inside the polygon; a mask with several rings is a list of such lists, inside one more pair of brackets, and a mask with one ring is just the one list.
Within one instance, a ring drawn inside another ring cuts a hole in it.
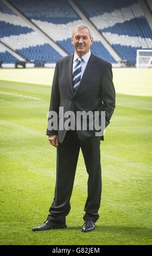
[{"label": "dark jacket sleeve of the bent arm with hand in pocket", "polygon": [[105,66],[102,76],[101,100],[102,107],[100,111],[105,111],[105,127],[110,124],[113,111],[115,109],[115,88],[112,82],[112,65],[109,63]]}]

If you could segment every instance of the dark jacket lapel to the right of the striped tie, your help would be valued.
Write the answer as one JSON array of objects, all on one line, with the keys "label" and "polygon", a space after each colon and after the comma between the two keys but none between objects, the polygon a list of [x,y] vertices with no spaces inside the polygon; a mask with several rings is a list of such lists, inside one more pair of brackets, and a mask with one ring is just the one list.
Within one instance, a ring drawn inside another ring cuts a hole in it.
[{"label": "dark jacket lapel to the right of the striped tie", "polygon": [[95,56],[93,54],[91,54],[88,63],[86,65],[83,77],[80,81],[79,87],[77,89],[77,91],[75,92],[75,95],[79,92],[79,90],[81,89],[81,87],[84,85],[85,81],[87,80],[87,78],[91,75],[91,72],[93,71],[94,67],[96,66],[96,59]]}]

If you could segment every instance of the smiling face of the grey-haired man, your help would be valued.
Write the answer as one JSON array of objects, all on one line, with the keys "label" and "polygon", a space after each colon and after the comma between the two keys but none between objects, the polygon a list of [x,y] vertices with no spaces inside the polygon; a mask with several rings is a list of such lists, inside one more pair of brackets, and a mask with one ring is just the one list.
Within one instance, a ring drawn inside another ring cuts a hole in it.
[{"label": "smiling face of the grey-haired man", "polygon": [[78,56],[83,56],[90,50],[93,38],[90,38],[90,33],[87,28],[77,29],[71,38],[72,45]]}]

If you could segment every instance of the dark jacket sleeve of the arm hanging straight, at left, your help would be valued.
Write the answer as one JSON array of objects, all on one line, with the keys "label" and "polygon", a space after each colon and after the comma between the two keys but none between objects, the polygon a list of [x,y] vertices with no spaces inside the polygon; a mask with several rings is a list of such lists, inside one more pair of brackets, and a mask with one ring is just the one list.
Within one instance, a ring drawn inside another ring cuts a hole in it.
[{"label": "dark jacket sleeve of the arm hanging straight, at left", "polygon": [[[56,118],[56,121],[58,122],[58,115],[59,115],[59,106],[60,106],[60,93],[59,93],[59,83],[58,83],[58,73],[59,73],[59,68],[58,68],[58,62],[56,63],[55,66],[55,71],[54,71],[54,77],[53,77],[53,83],[52,83],[52,91],[51,91],[51,96],[50,96],[50,105],[49,105],[49,114],[48,114],[48,123],[47,123],[47,132],[46,135],[58,135],[58,128],[56,129],[51,129],[50,130],[50,119],[52,118],[52,113],[56,113],[54,117]],[[54,123],[53,123],[54,125]],[[58,123],[57,123],[58,126]]]}]

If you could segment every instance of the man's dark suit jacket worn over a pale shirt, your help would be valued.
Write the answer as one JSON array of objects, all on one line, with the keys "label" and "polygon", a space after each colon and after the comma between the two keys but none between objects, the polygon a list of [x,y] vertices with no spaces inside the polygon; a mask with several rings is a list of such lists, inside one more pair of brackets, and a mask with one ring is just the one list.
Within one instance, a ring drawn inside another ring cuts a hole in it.
[{"label": "man's dark suit jacket worn over a pale shirt", "polygon": [[[66,111],[105,111],[105,126],[107,126],[115,109],[112,65],[91,54],[77,92],[73,94],[73,57],[74,54],[71,54],[59,59],[56,63],[49,111],[55,111],[58,115],[59,107],[64,107],[64,113]],[[94,130],[77,132],[82,141],[94,134]],[[58,135],[59,143],[62,143],[65,134],[66,130],[47,129],[47,135]],[[100,139],[103,140],[103,136]]]}]

